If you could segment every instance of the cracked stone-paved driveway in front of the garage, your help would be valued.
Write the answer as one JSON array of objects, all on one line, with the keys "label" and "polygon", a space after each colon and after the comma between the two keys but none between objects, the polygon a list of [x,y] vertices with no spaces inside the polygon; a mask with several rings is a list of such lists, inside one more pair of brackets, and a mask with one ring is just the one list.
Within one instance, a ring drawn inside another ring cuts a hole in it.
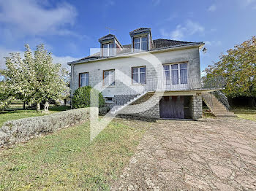
[{"label": "cracked stone-paved driveway in front of the garage", "polygon": [[112,190],[256,190],[256,122],[154,122]]}]

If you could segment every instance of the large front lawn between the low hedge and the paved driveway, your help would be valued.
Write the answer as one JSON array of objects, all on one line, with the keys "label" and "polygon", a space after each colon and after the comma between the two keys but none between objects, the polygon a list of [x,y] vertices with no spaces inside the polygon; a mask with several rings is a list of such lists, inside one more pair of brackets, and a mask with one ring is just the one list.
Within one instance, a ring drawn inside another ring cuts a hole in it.
[{"label": "large front lawn between the low hedge and the paved driveway", "polygon": [[114,120],[94,141],[89,122],[0,150],[0,190],[110,190],[148,122]]}]

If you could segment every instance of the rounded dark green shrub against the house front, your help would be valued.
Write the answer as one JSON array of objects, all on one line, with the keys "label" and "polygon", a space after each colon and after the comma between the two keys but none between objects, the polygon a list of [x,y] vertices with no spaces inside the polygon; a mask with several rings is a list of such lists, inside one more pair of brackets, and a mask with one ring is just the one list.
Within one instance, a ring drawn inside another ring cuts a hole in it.
[{"label": "rounded dark green shrub against the house front", "polygon": [[[74,108],[97,106],[97,95],[99,95],[99,107],[104,106],[105,100],[102,93],[90,86],[79,87],[77,90],[75,90],[75,93],[72,97],[72,106]],[[91,96],[93,96],[92,103]]]}]

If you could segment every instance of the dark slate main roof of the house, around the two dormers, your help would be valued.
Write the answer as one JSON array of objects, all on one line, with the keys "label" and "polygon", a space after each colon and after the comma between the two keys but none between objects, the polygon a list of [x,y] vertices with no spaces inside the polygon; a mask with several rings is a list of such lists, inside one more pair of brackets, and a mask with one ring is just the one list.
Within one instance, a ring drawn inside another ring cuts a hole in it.
[{"label": "dark slate main roof of the house, around the two dormers", "polygon": [[[195,42],[184,42],[184,41],[176,41],[176,40],[170,40],[170,39],[155,39],[153,40],[151,50],[165,49],[166,47],[175,47],[175,46],[186,45],[186,44],[195,44]],[[126,45],[123,45],[123,47],[124,47],[124,50],[121,50],[121,52],[118,52],[118,55],[132,53],[132,44],[126,44]],[[100,52],[97,52],[93,55],[89,55],[89,56],[86,56],[85,58],[81,58],[78,61],[74,61],[74,63],[80,62],[80,61],[96,60],[99,58],[102,58],[102,57],[100,56]]]}]

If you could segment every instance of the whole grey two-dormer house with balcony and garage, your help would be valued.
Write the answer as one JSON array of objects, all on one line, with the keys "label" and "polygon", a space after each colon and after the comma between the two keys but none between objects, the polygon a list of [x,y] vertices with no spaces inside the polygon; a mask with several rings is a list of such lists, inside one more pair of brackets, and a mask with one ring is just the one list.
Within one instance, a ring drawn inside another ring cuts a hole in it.
[{"label": "whole grey two-dormer house with balcony and garage", "polygon": [[112,114],[163,119],[202,117],[200,49],[203,42],[152,39],[151,28],[129,32],[131,44],[108,34],[100,51],[70,62],[71,90],[102,91]]}]

